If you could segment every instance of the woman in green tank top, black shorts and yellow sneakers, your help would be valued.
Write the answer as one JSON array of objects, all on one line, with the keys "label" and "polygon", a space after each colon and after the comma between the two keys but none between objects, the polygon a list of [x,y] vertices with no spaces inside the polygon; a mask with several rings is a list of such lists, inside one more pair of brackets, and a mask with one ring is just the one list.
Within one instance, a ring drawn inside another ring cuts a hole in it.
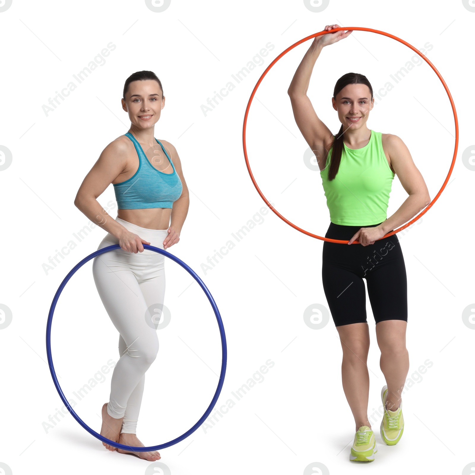
[{"label": "woman in green tank top, black shorts and yellow sneakers", "polygon": [[[325,30],[333,28],[339,26],[327,25]],[[343,390],[355,420],[350,460],[371,461],[377,449],[367,413],[370,337],[363,278],[387,383],[381,390],[384,415],[380,434],[386,444],[395,445],[404,429],[401,391],[409,371],[407,279],[397,235],[382,237],[414,217],[430,203],[430,197],[404,142],[396,135],[367,128],[374,98],[366,76],[348,73],[338,79],[332,104],[342,126],[336,136],[317,117],[306,95],[322,48],[351,33],[337,31],[314,38],[288,94],[295,122],[319,161],[331,219],[325,237],[349,240],[348,245],[323,243],[323,290],[342,343]],[[395,175],[409,197],[386,218]],[[352,244],[356,239],[360,244]]]}]

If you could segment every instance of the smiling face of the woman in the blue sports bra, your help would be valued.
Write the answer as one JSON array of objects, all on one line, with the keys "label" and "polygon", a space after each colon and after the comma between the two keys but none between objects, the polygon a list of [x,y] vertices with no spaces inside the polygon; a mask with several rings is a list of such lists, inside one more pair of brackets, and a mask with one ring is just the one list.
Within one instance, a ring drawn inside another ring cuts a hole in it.
[{"label": "smiling face of the woman in the blue sports bra", "polygon": [[122,99],[122,108],[129,113],[130,122],[141,129],[153,127],[160,119],[165,97],[153,79],[133,81]]}]

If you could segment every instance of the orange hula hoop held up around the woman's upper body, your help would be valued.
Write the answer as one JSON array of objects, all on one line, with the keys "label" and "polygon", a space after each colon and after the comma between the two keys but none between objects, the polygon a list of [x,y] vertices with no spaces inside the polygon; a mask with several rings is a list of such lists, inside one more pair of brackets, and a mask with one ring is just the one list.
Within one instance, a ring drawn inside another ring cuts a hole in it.
[{"label": "orange hula hoop held up around the woman's upper body", "polygon": [[[279,217],[281,218],[283,221],[285,221],[287,224],[289,224],[290,226],[292,226],[292,228],[295,228],[297,229],[297,231],[300,231],[304,234],[306,234],[307,236],[311,236],[311,237],[316,237],[317,239],[321,239],[322,241],[328,241],[328,242],[336,242],[336,243],[340,243],[340,244],[348,244],[350,241],[343,241],[341,239],[330,239],[329,237],[322,237],[322,236],[318,236],[317,234],[313,234],[309,231],[305,231],[305,229],[302,229],[302,228],[299,228],[298,226],[296,226],[294,223],[290,222],[288,219],[284,218],[284,216],[282,216],[270,203],[269,201],[266,199],[266,197],[264,196],[264,194],[262,193],[262,191],[259,189],[259,187],[257,186],[257,183],[256,183],[256,180],[254,179],[254,176],[252,174],[252,171],[251,171],[251,167],[249,165],[249,161],[247,159],[247,149],[246,149],[246,125],[247,125],[247,115],[249,114],[249,108],[251,107],[251,103],[252,103],[252,99],[254,98],[254,95],[256,94],[256,91],[257,91],[257,88],[259,87],[259,84],[261,84],[262,80],[264,79],[264,76],[266,76],[266,74],[269,72],[270,68],[272,66],[274,66],[276,64],[276,62],[281,58],[283,57],[286,53],[288,53],[291,49],[294,49],[296,46],[300,45],[301,43],[303,43],[304,41],[307,41],[308,39],[311,39],[311,38],[315,38],[317,36],[321,36],[321,35],[324,35],[326,33],[333,33],[335,31],[348,31],[348,30],[359,30],[359,31],[369,31],[370,33],[378,33],[379,35],[383,35],[383,36],[387,36],[388,38],[392,38],[392,39],[395,39],[397,41],[399,41],[399,43],[402,43],[403,45],[406,45],[407,47],[411,48],[413,51],[415,51],[419,56],[421,56],[425,61],[426,63],[435,71],[435,73],[437,74],[437,76],[439,77],[440,81],[442,82],[442,85],[444,86],[446,92],[447,92],[447,95],[448,95],[448,98],[450,100],[450,104],[452,104],[452,111],[454,113],[454,121],[455,121],[455,148],[454,148],[454,158],[452,159],[452,163],[450,164],[450,169],[448,171],[448,174],[447,174],[447,178],[445,179],[444,181],[444,184],[442,185],[442,188],[439,190],[439,192],[437,193],[436,197],[428,204],[428,206],[426,207],[426,209],[424,209],[421,213],[419,213],[415,218],[411,219],[409,221],[409,223],[405,224],[404,226],[401,226],[400,228],[398,229],[395,229],[394,231],[391,231],[390,233],[384,235],[383,237],[381,237],[380,239],[384,239],[385,237],[389,237],[389,236],[392,236],[393,234],[396,234],[396,233],[399,233],[399,231],[402,231],[403,229],[407,228],[409,225],[411,225],[413,222],[417,221],[419,218],[422,217],[422,215],[424,215],[425,213],[427,213],[428,209],[432,207],[432,205],[437,201],[438,197],[440,196],[440,194],[442,193],[442,191],[444,190],[444,188],[446,187],[447,185],[447,181],[448,179],[450,178],[450,175],[452,174],[452,170],[454,168],[454,165],[455,165],[455,159],[456,159],[456,156],[457,156],[457,148],[458,148],[458,119],[457,119],[457,113],[456,113],[456,110],[455,110],[455,104],[454,104],[454,101],[452,99],[452,95],[450,94],[450,91],[448,90],[448,87],[447,87],[447,84],[445,83],[444,79],[442,78],[442,76],[440,75],[440,73],[437,71],[436,67],[428,60],[427,57],[425,57],[420,51],[418,51],[418,49],[416,49],[415,47],[413,47],[412,45],[410,45],[409,43],[407,43],[406,41],[404,41],[403,39],[401,38],[398,38],[397,36],[394,36],[394,35],[391,35],[390,33],[386,33],[384,31],[380,31],[380,30],[375,30],[375,29],[372,29],[372,28],[362,28],[362,27],[339,27],[339,28],[333,28],[331,30],[328,30],[328,31],[319,31],[318,33],[314,33],[313,35],[310,35],[310,36],[307,36],[306,38],[303,38],[301,39],[300,41],[297,41],[296,43],[294,43],[292,46],[289,46],[287,49],[285,49],[284,51],[282,51],[282,53],[280,53],[279,56],[276,57],[276,59],[274,59],[274,61],[272,61],[272,63],[267,66],[266,70],[262,73],[262,76],[259,78],[259,80],[257,81],[257,84],[256,86],[254,87],[253,91],[252,91],[252,94],[251,94],[251,97],[249,98],[249,102],[247,103],[247,107],[246,107],[246,114],[244,114],[244,124],[243,124],[243,129],[242,129],[242,143],[243,143],[243,148],[244,148],[244,157],[246,159],[246,166],[247,166],[247,171],[249,172],[249,175],[251,177],[251,180],[252,182],[254,183],[254,186],[256,187],[256,190],[257,192],[259,193],[259,195],[261,196],[261,198],[266,202],[266,205],[272,209],[272,211],[274,211],[274,213]],[[379,239],[378,239],[379,240]],[[355,240],[353,241],[352,244],[359,244],[359,241],[358,240]]]}]

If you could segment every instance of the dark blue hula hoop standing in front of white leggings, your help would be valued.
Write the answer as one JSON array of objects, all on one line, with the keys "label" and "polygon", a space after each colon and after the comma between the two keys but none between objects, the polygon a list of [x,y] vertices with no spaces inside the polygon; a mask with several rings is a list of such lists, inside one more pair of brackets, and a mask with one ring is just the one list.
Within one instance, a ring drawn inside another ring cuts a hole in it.
[{"label": "dark blue hula hoop standing in front of white leggings", "polygon": [[148,244],[143,244],[143,247],[145,249],[151,249],[152,251],[155,251],[159,254],[163,254],[164,256],[169,257],[171,260],[177,262],[180,264],[181,267],[183,267],[188,273],[194,277],[194,279],[198,282],[199,286],[203,289],[204,293],[208,297],[209,303],[213,307],[214,314],[216,315],[216,320],[218,321],[218,326],[219,326],[219,333],[221,335],[221,348],[222,348],[222,361],[221,361],[221,373],[219,375],[219,381],[218,381],[218,388],[216,389],[216,392],[214,394],[213,399],[211,400],[211,404],[209,405],[208,409],[206,409],[206,412],[203,414],[203,416],[199,419],[199,421],[188,431],[186,431],[183,435],[180,437],[177,437],[170,442],[166,442],[164,444],[160,444],[157,446],[153,447],[133,447],[133,446],[128,446],[124,444],[119,444],[118,442],[114,442],[104,436],[101,436],[95,430],[91,429],[85,422],[79,418],[79,416],[76,414],[74,409],[70,406],[69,402],[67,401],[65,395],[63,394],[63,390],[61,390],[61,387],[59,386],[59,382],[57,380],[55,368],[53,365],[53,358],[51,356],[51,323],[53,321],[53,314],[56,308],[56,304],[59,298],[59,295],[61,295],[61,292],[63,291],[63,288],[69,281],[69,279],[76,273],[76,271],[82,267],[86,262],[90,261],[92,258],[99,256],[100,254],[104,254],[105,252],[112,251],[114,249],[120,249],[121,247],[118,244],[114,244],[113,246],[107,246],[103,247],[102,249],[98,249],[97,251],[93,252],[89,256],[85,257],[81,262],[79,262],[70,272],[69,274],[64,278],[63,282],[61,282],[61,285],[57,289],[56,295],[53,298],[53,302],[51,303],[51,308],[49,310],[48,314],[48,323],[46,327],[46,352],[48,356],[48,364],[49,364],[49,370],[51,371],[51,376],[53,378],[53,381],[55,383],[56,389],[58,391],[59,397],[62,399],[64,402],[65,406],[67,407],[67,410],[71,413],[71,415],[79,422],[79,424],[87,430],[90,434],[92,434],[94,437],[98,438],[99,440],[102,440],[106,444],[109,444],[113,447],[117,448],[122,448],[124,450],[133,450],[135,452],[150,452],[153,450],[159,450],[161,448],[165,447],[170,447],[174,444],[177,444],[178,442],[182,441],[186,437],[188,437],[190,434],[192,434],[199,426],[203,423],[203,421],[209,416],[211,411],[214,408],[214,405],[216,404],[216,401],[218,400],[219,394],[221,392],[221,388],[223,387],[224,383],[224,376],[226,374],[226,359],[227,359],[227,345],[226,345],[226,336],[224,333],[224,327],[223,327],[223,322],[221,320],[221,315],[219,314],[218,307],[213,299],[213,296],[210,294],[208,288],[206,285],[204,285],[203,281],[199,278],[199,276],[195,273],[193,269],[191,269],[189,266],[187,266],[182,260],[180,260],[178,257],[173,256],[173,254],[170,254],[167,251],[164,251],[163,249],[160,249],[159,247],[154,247],[154,246],[149,246]]}]

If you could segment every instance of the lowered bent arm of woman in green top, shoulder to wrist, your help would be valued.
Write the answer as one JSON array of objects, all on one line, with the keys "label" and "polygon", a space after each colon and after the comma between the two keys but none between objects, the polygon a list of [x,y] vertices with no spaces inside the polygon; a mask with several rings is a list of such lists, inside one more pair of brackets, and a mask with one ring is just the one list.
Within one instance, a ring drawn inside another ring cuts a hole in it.
[{"label": "lowered bent arm of woman in green top, shoulder to wrist", "polygon": [[380,224],[384,234],[387,234],[392,229],[402,226],[425,208],[430,203],[430,196],[426,182],[412,160],[406,144],[397,135],[385,135],[384,148],[389,153],[391,166],[409,195],[399,209]]}]

